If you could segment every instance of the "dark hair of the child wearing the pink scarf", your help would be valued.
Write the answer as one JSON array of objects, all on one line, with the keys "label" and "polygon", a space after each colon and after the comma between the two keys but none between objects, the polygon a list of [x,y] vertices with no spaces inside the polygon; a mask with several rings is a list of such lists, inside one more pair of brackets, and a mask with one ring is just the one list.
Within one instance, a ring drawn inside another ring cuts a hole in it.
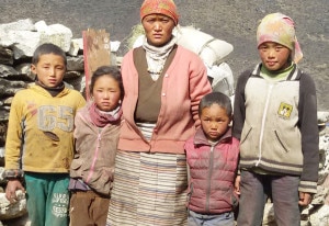
[{"label": "dark hair of the child wearing the pink scarf", "polygon": [[90,80],[90,94],[92,95],[92,91],[93,91],[93,87],[95,81],[102,77],[102,76],[110,76],[112,77],[114,80],[116,80],[118,82],[118,88],[121,90],[121,100],[123,99],[125,92],[124,92],[124,88],[123,88],[123,81],[122,81],[122,77],[121,77],[121,71],[117,68],[117,66],[101,66],[99,67],[92,75],[91,80]]}]

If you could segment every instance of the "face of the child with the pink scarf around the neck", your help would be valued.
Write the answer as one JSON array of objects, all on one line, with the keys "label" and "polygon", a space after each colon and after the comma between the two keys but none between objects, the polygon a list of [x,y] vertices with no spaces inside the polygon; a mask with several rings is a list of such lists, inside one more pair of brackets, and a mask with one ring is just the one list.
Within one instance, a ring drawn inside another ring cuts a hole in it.
[{"label": "face of the child with the pink scarf around the neck", "polygon": [[99,110],[110,112],[118,105],[121,90],[118,82],[107,76],[101,76],[94,82],[92,98]]}]

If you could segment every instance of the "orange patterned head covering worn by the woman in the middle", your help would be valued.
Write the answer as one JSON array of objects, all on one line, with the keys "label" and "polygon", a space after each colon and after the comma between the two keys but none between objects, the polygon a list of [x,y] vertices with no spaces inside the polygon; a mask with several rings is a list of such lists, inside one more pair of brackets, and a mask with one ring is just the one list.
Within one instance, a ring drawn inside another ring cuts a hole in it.
[{"label": "orange patterned head covering worn by the woman in the middle", "polygon": [[167,15],[178,24],[179,14],[173,0],[145,0],[140,8],[140,20],[154,13]]}]

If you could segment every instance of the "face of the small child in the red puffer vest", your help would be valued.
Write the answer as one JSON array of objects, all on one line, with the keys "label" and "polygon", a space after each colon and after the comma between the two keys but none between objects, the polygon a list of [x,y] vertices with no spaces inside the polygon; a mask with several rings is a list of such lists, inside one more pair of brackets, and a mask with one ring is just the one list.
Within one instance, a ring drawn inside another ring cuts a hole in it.
[{"label": "face of the small child in the red puffer vest", "polygon": [[200,115],[201,126],[206,137],[217,142],[227,131],[231,116],[218,104],[204,108]]}]

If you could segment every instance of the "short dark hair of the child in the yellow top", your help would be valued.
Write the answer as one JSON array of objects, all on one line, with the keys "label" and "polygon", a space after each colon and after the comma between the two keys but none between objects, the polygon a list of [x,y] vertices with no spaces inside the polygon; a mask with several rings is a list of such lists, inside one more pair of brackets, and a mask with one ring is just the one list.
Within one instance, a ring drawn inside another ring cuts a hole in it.
[{"label": "short dark hair of the child in the yellow top", "polygon": [[44,44],[39,45],[34,50],[34,54],[33,54],[33,57],[32,57],[32,64],[37,65],[37,63],[39,60],[39,57],[42,55],[45,55],[45,54],[54,54],[54,55],[57,55],[57,56],[61,56],[65,66],[67,66],[67,58],[66,58],[65,52],[59,46],[57,46],[53,43],[44,43]]}]

